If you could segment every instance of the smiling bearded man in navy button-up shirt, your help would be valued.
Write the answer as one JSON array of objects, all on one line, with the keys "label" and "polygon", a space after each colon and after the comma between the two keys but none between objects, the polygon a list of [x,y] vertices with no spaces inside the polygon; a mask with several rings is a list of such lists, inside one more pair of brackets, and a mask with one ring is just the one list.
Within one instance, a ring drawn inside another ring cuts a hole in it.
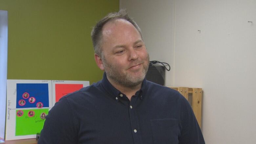
[{"label": "smiling bearded man in navy button-up shirt", "polygon": [[146,81],[149,56],[126,11],[110,13],[92,31],[103,79],[55,104],[38,144],[201,144],[187,100]]}]

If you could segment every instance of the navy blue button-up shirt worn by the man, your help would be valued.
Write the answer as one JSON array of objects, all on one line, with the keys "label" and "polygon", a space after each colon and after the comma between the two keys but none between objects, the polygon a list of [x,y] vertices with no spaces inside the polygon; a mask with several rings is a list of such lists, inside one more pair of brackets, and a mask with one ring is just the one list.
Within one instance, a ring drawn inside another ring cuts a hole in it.
[{"label": "navy blue button-up shirt worn by the man", "polygon": [[62,97],[46,116],[38,144],[204,144],[188,101],[143,80],[131,101],[103,79]]}]

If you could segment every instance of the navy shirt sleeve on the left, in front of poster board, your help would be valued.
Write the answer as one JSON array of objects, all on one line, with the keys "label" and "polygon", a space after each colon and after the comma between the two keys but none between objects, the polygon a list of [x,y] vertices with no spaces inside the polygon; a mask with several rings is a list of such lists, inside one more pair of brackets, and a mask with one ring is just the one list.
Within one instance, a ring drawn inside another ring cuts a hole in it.
[{"label": "navy shirt sleeve on the left, in front of poster board", "polygon": [[67,98],[62,97],[46,116],[38,144],[76,144],[77,135],[74,115]]}]

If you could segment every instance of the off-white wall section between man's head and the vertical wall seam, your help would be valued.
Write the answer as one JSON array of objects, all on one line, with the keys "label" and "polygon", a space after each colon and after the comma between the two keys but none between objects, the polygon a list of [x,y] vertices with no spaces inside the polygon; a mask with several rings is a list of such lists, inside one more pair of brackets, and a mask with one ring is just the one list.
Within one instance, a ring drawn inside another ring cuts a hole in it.
[{"label": "off-white wall section between man's head and the vertical wall seam", "polygon": [[170,65],[165,85],[173,86],[174,0],[120,0],[119,4],[139,25],[150,60]]}]

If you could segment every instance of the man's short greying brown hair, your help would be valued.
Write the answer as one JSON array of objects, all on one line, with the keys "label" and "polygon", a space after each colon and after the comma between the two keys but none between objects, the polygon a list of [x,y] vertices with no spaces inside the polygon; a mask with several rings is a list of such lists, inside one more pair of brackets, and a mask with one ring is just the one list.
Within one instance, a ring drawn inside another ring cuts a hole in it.
[{"label": "man's short greying brown hair", "polygon": [[115,21],[116,19],[124,19],[124,20],[127,20],[128,22],[130,22],[137,29],[137,31],[139,32],[139,34],[141,36],[141,39],[143,40],[139,26],[132,18],[130,18],[128,16],[127,11],[125,9],[119,10],[118,12],[109,13],[104,18],[102,18],[99,22],[97,22],[97,24],[95,25],[95,27],[93,27],[93,30],[91,32],[91,37],[92,37],[93,46],[94,46],[94,52],[98,56],[100,56],[100,58],[102,58],[102,56],[103,56],[102,48],[101,48],[101,46],[102,46],[102,28],[107,22]]}]

